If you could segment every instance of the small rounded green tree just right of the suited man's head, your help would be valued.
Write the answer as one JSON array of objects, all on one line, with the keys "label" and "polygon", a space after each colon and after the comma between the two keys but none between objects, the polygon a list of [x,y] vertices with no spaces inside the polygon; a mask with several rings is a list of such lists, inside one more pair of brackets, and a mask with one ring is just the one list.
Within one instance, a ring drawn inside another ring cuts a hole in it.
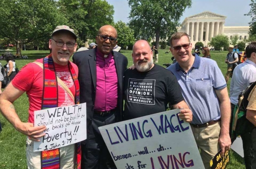
[{"label": "small rounded green tree just right of the suited man's head", "polygon": [[118,46],[121,46],[123,49],[126,48],[126,46],[133,45],[135,42],[134,39],[134,31],[129,28],[124,22],[118,21],[114,24],[114,28],[117,31],[118,37],[117,37],[117,44]]}]

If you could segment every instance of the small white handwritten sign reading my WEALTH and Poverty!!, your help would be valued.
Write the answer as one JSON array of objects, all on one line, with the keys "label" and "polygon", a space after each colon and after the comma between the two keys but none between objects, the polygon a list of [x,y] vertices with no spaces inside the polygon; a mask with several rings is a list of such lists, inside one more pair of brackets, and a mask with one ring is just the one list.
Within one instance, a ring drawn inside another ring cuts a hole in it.
[{"label": "small white handwritten sign reading my WEALTH and Poverty!!", "polygon": [[45,136],[34,141],[34,152],[64,147],[86,139],[86,103],[34,112],[34,126],[45,125]]}]

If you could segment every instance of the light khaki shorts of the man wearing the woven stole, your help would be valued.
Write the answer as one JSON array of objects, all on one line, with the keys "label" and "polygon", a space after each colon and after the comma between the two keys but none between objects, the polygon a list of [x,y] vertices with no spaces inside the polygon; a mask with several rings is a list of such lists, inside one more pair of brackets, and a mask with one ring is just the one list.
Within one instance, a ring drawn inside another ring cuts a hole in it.
[{"label": "light khaki shorts of the man wearing the woven stole", "polygon": [[[33,152],[34,141],[27,138],[27,165],[28,169],[41,169],[41,152]],[[60,169],[74,168],[75,144],[59,148]]]}]

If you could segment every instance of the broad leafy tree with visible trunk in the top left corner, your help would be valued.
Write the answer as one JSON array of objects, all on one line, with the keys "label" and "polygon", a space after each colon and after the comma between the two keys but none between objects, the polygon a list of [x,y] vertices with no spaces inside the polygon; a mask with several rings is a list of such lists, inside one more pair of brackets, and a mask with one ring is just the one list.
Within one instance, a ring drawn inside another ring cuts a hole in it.
[{"label": "broad leafy tree with visible trunk in the top left corner", "polygon": [[0,36],[14,41],[21,56],[21,43],[42,42],[54,28],[66,21],[55,0],[1,0]]}]

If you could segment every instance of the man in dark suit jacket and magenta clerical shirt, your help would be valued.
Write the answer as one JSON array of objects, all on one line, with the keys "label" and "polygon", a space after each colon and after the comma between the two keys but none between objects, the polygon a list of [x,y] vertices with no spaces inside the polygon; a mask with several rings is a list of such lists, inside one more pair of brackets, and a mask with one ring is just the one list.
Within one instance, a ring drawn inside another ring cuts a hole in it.
[{"label": "man in dark suit jacket and magenta clerical shirt", "polygon": [[113,51],[117,43],[114,27],[105,25],[96,36],[97,47],[75,53],[80,102],[86,102],[87,139],[82,145],[82,169],[116,169],[98,127],[121,121],[123,76],[126,56]]}]

